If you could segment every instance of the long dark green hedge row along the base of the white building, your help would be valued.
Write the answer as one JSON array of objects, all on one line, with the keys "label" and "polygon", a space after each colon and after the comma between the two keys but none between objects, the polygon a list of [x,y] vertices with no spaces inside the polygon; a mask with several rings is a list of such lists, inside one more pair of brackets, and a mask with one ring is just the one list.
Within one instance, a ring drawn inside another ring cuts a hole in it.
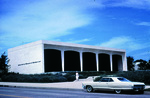
[{"label": "long dark green hedge row along the base of the white building", "polygon": [[[74,81],[76,72],[58,72],[56,74],[44,73],[44,74],[17,74],[8,73],[2,75],[1,81],[3,82],[66,82]],[[125,71],[125,72],[79,72],[79,78],[84,79],[88,76],[121,76],[131,81],[144,82],[150,84],[150,71]],[[97,79],[98,80],[98,79]]]}]

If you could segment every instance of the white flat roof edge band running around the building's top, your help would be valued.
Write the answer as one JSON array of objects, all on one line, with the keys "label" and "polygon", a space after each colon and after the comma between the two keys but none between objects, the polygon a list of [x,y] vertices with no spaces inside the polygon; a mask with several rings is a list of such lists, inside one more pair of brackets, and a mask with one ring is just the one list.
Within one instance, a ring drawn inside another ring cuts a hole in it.
[{"label": "white flat roof edge band running around the building's top", "polygon": [[95,50],[106,50],[106,51],[116,51],[116,52],[126,52],[124,49],[117,49],[117,48],[107,48],[107,47],[100,47],[100,46],[92,46],[92,45],[83,45],[83,44],[74,44],[74,43],[67,43],[67,42],[57,42],[57,41],[48,41],[48,40],[39,40],[36,42],[31,42],[25,45],[20,45],[14,48],[8,49],[8,51],[14,51],[25,47],[30,47],[38,44],[47,44],[47,45],[56,45],[56,46],[68,46],[74,48],[86,48],[86,49],[95,49]]}]

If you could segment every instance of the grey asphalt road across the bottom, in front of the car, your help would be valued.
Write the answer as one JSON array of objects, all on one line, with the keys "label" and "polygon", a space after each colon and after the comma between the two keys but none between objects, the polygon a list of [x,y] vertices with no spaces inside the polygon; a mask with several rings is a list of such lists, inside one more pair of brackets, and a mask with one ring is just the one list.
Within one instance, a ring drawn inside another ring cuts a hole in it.
[{"label": "grey asphalt road across the bottom, in front of the car", "polygon": [[0,98],[150,98],[150,92],[115,94],[100,91],[88,93],[83,90],[0,87]]}]

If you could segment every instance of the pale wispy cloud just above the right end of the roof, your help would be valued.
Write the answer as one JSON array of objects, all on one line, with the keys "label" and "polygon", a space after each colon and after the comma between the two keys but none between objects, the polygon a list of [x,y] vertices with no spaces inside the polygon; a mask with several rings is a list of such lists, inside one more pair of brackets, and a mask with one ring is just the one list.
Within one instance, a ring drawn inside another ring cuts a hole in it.
[{"label": "pale wispy cloud just above the right end of the roof", "polygon": [[145,48],[128,36],[114,37],[107,42],[99,44],[99,46],[126,49],[128,52]]}]

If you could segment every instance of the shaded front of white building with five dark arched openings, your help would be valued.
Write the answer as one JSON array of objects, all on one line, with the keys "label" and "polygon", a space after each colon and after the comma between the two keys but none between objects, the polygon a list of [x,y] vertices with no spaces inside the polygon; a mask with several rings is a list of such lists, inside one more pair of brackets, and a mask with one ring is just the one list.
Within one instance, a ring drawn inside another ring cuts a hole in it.
[{"label": "shaded front of white building with five dark arched openings", "polygon": [[52,71],[123,71],[119,52],[45,46],[44,69]]}]

